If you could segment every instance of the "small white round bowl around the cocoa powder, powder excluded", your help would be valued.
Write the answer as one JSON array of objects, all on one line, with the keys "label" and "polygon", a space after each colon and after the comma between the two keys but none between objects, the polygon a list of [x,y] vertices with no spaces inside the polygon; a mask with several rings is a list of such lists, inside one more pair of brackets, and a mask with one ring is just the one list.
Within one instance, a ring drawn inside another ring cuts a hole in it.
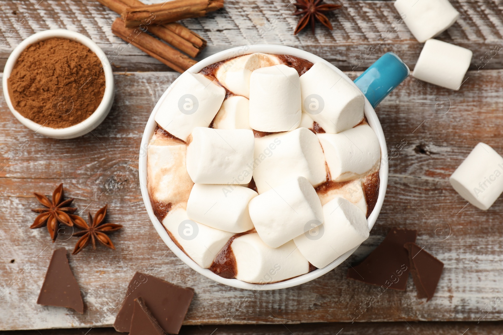
[{"label": "small white round bowl around the cocoa powder, powder excluded", "polygon": [[[33,43],[37,43],[39,41],[52,37],[67,38],[69,40],[77,41],[87,46],[98,56],[103,65],[103,71],[105,72],[105,93],[103,94],[103,99],[98,108],[86,120],[67,128],[45,127],[23,117],[12,105],[11,98],[9,97],[9,89],[7,88],[7,79],[11,75],[14,65],[16,65],[21,52],[23,52],[29,45],[32,45]],[[108,61],[108,58],[103,50],[101,50],[100,47],[96,43],[91,41],[91,39],[89,39],[88,37],[65,29],[51,29],[33,34],[32,36],[21,42],[16,48],[14,48],[11,55],[7,59],[7,63],[5,64],[2,85],[4,88],[4,96],[7,105],[9,106],[9,109],[11,109],[12,114],[14,114],[16,119],[18,119],[23,125],[33,130],[34,132],[56,139],[72,139],[74,137],[79,137],[87,134],[98,127],[98,125],[101,124],[107,117],[108,112],[112,107],[112,103],[114,102],[115,94],[112,67],[110,66],[110,62]]]}]

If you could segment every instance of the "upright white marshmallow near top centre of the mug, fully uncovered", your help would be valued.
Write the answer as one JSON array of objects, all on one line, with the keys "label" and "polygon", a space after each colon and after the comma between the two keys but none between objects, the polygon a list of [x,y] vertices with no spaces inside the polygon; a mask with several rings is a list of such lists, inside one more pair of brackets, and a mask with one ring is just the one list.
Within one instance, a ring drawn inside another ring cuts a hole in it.
[{"label": "upright white marshmallow near top centre of the mug, fully uncovered", "polygon": [[260,132],[285,132],[300,124],[300,81],[297,70],[284,64],[263,67],[250,77],[250,127]]}]

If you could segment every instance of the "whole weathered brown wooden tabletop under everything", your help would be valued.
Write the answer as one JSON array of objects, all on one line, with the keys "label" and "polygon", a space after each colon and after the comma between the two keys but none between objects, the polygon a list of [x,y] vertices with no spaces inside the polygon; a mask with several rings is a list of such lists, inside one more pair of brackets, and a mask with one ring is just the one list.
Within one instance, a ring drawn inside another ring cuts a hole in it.
[{"label": "whole weathered brown wooden tabletop under everything", "polygon": [[[136,161],[147,118],[179,74],[134,47],[114,53],[125,45],[110,31],[117,15],[93,0],[0,0],[0,66],[24,38],[66,28],[89,36],[110,55],[116,81],[108,118],[92,134],[73,140],[34,134],[0,97],[0,329],[110,326],[129,279],[150,269],[195,289],[185,324],[206,326],[188,326],[187,333],[209,334],[218,327],[220,333],[500,331],[500,323],[486,321],[503,318],[503,201],[478,210],[448,178],[478,142],[503,154],[503,50],[488,56],[503,48],[503,3],[451,2],[460,18],[439,39],[473,51],[467,80],[452,91],[409,77],[377,107],[390,156],[388,190],[370,238],[348,260],[363,259],[392,227],[416,229],[417,244],[444,262],[444,272],[430,302],[415,297],[409,280],[406,292],[387,291],[355,318],[355,310],[376,293],[373,286],[347,280],[346,263],[301,286],[263,292],[217,284],[182,263],[150,223]],[[344,9],[330,16],[334,30],[318,27],[316,35],[293,35],[297,19],[288,0],[227,0],[223,12],[184,24],[208,40],[199,59],[232,46],[264,43],[305,49],[352,78],[387,51],[414,67],[422,45],[405,25],[393,25],[398,14],[392,1],[341,3]],[[79,209],[95,212],[108,203],[109,221],[125,226],[112,237],[116,251],[88,248],[69,258],[86,304],[83,315],[36,304],[52,251],[71,250],[76,242],[63,236],[52,244],[45,229],[29,229],[35,218],[30,208],[37,206],[32,192],[51,194],[60,182]],[[289,324],[304,322],[346,323]],[[264,323],[277,325],[240,325]]]}]

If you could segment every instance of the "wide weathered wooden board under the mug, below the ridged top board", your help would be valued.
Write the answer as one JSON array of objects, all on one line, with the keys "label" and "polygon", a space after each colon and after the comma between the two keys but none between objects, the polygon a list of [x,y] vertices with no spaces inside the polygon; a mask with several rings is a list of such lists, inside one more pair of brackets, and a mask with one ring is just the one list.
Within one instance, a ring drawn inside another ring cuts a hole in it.
[{"label": "wide weathered wooden board under the mug, below the ridged top board", "polygon": [[[417,229],[417,243],[445,263],[428,303],[416,299],[411,280],[406,292],[378,296],[375,287],[345,278],[346,263],[304,285],[264,292],[217,284],[184,265],[150,224],[136,161],[150,111],[176,73],[116,73],[109,117],[74,140],[28,131],[0,99],[0,329],[109,325],[133,273],[149,270],[196,290],[186,324],[503,319],[503,201],[485,212],[464,207],[448,183],[477,141],[503,153],[502,75],[470,71],[458,92],[410,77],[377,108],[390,155],[388,193],[371,237],[349,263],[365,257],[391,227]],[[446,109],[434,107],[438,98],[451,103],[442,116]],[[87,249],[69,258],[86,303],[83,315],[35,303],[52,251],[76,242],[63,235],[52,244],[44,229],[29,229],[35,218],[29,209],[37,205],[31,192],[50,194],[61,181],[80,209],[94,212],[108,203],[109,221],[125,226],[112,237],[116,251]],[[361,307],[371,296],[376,301]]]}]

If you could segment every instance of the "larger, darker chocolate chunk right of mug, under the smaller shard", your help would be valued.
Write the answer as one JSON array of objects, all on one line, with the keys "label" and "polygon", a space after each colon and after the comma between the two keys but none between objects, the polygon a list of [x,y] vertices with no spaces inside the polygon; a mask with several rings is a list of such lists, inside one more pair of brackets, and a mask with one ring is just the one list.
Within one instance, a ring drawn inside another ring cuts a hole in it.
[{"label": "larger, darker chocolate chunk right of mug, under the smaller shard", "polygon": [[416,237],[415,230],[391,229],[384,241],[363,262],[348,269],[348,278],[383,289],[405,291],[410,265],[403,245],[415,242]]}]

